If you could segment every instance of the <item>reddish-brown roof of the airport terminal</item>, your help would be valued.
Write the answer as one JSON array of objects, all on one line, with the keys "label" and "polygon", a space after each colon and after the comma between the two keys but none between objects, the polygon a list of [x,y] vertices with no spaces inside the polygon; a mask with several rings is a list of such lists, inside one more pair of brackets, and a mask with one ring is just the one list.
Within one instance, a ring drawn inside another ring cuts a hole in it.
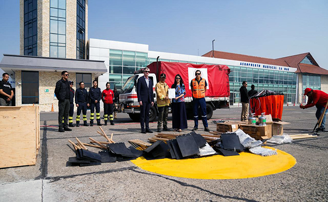
[{"label": "reddish-brown roof of the airport terminal", "polygon": [[[306,56],[309,56],[311,58],[314,65],[301,63]],[[213,52],[210,51],[204,54],[203,57],[212,58]],[[262,63],[262,64],[285,66],[285,67],[294,67],[297,68],[295,73],[311,73],[311,74],[328,75],[328,70],[319,67],[319,65],[315,62],[314,58],[311,56],[310,53],[298,54],[298,55],[288,56],[278,59],[269,59],[269,58],[260,58],[255,56],[233,54],[233,53],[227,53],[221,51],[214,51],[214,58],[245,61],[245,62],[252,62],[252,63]]]}]

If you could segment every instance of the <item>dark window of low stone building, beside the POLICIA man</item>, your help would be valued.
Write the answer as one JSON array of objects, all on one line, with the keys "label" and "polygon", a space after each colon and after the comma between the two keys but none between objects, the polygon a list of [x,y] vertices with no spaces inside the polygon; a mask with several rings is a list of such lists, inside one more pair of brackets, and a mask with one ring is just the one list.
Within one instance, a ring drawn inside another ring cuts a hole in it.
[{"label": "dark window of low stone building, beside the POLICIA man", "polygon": [[22,104],[39,104],[39,72],[22,71]]}]

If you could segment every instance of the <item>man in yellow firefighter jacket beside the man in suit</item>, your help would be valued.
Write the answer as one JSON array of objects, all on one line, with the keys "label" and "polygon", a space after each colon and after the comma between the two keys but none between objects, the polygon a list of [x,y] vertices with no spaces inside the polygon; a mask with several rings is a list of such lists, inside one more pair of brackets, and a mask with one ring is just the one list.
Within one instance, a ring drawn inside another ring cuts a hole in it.
[{"label": "man in yellow firefighter jacket beside the man in suit", "polygon": [[163,131],[170,131],[168,128],[168,115],[169,115],[169,85],[165,82],[167,76],[162,73],[159,76],[159,82],[156,83],[155,92],[157,98],[158,109],[158,122],[157,132],[161,132],[161,124],[163,123]]}]

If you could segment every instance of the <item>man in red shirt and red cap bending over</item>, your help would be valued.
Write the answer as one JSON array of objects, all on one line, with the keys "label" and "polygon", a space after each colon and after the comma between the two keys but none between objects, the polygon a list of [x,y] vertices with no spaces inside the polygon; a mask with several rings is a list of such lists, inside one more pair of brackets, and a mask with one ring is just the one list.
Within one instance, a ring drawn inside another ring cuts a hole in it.
[{"label": "man in red shirt and red cap bending over", "polygon": [[[321,114],[324,111],[325,105],[327,104],[328,94],[321,90],[312,90],[311,88],[305,88],[304,95],[308,96],[308,101],[306,105],[300,105],[301,109],[306,109],[315,106],[316,107],[316,119],[319,120]],[[316,129],[316,132],[325,131],[325,116],[328,112],[328,108],[324,112],[323,119],[319,128]]]}]

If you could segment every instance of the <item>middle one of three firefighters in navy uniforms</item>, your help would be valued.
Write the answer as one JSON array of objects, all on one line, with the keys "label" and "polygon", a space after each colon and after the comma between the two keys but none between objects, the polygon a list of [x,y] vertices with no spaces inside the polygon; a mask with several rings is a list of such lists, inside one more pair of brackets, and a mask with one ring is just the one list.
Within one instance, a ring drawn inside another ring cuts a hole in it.
[{"label": "middle one of three firefighters in navy uniforms", "polygon": [[80,126],[80,114],[83,114],[83,126],[89,126],[87,124],[87,107],[89,107],[88,91],[84,88],[84,83],[79,83],[80,88],[75,91],[75,104],[77,107],[76,112],[76,127]]}]

